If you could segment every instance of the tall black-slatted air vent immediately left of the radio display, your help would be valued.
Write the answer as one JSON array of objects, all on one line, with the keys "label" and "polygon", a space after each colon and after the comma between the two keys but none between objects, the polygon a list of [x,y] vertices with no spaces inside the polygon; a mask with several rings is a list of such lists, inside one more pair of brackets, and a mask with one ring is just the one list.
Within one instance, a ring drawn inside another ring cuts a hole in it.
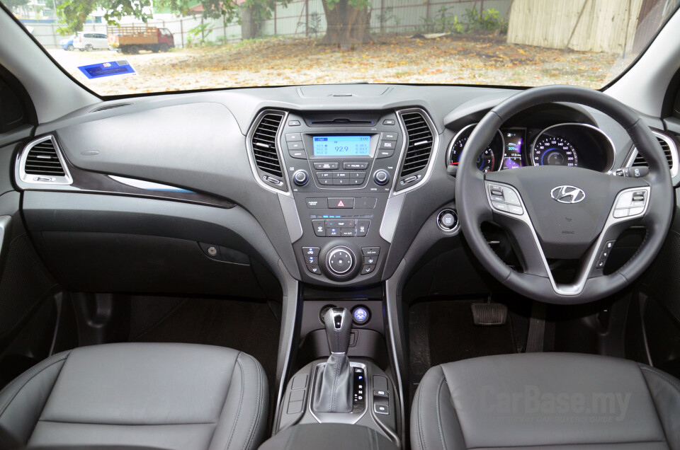
[{"label": "tall black-slatted air vent immediately left of the radio display", "polygon": [[260,116],[251,132],[251,146],[259,178],[268,185],[283,190],[283,170],[276,150],[276,137],[283,123],[283,111],[268,111]]}]

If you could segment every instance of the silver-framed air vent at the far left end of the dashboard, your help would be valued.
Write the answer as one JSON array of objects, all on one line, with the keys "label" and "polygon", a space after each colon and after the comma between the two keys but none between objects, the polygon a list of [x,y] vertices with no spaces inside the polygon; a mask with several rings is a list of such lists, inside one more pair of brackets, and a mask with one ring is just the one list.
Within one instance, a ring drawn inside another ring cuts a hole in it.
[{"label": "silver-framed air vent at the far left end of the dashboard", "polygon": [[18,161],[19,177],[26,183],[72,183],[64,158],[53,136],[30,142],[21,152]]}]

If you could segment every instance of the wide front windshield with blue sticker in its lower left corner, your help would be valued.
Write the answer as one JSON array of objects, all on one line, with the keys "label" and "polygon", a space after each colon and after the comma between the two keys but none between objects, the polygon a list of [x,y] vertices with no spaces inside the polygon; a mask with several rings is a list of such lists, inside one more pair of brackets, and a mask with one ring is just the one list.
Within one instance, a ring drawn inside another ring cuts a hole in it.
[{"label": "wide front windshield with blue sticker in its lower left corner", "polygon": [[347,82],[602,88],[680,4],[0,1],[65,71],[102,96]]}]

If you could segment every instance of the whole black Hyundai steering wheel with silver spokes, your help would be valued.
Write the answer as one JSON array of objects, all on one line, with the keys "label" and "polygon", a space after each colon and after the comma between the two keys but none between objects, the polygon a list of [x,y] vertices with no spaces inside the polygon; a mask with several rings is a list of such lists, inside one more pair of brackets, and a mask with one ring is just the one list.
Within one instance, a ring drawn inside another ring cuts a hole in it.
[{"label": "whole black Hyundai steering wheel with silver spokes", "polygon": [[[482,173],[477,156],[510,117],[543,103],[587,105],[616,120],[645,157],[650,172],[624,178],[584,168],[531,166]],[[472,252],[499,282],[531,299],[581,304],[614,294],[647,269],[666,238],[674,209],[671,177],[661,146],[637,113],[604,93],[576,86],[522,91],[477,124],[460,156],[455,204]],[[508,233],[523,271],[505,264],[482,235],[494,222]],[[621,231],[645,226],[642,245],[623,267],[604,275],[604,261]],[[574,281],[555,282],[550,259],[579,260]]]}]

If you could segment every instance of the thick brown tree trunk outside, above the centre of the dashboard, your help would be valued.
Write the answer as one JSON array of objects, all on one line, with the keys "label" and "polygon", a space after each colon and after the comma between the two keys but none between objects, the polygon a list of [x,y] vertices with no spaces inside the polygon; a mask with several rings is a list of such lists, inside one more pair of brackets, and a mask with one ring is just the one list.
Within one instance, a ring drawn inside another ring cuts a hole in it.
[{"label": "thick brown tree trunk outside, above the centre of the dashboard", "polygon": [[339,0],[334,8],[322,1],[326,15],[326,44],[365,44],[370,41],[370,12],[368,6],[354,7],[349,0]]}]

